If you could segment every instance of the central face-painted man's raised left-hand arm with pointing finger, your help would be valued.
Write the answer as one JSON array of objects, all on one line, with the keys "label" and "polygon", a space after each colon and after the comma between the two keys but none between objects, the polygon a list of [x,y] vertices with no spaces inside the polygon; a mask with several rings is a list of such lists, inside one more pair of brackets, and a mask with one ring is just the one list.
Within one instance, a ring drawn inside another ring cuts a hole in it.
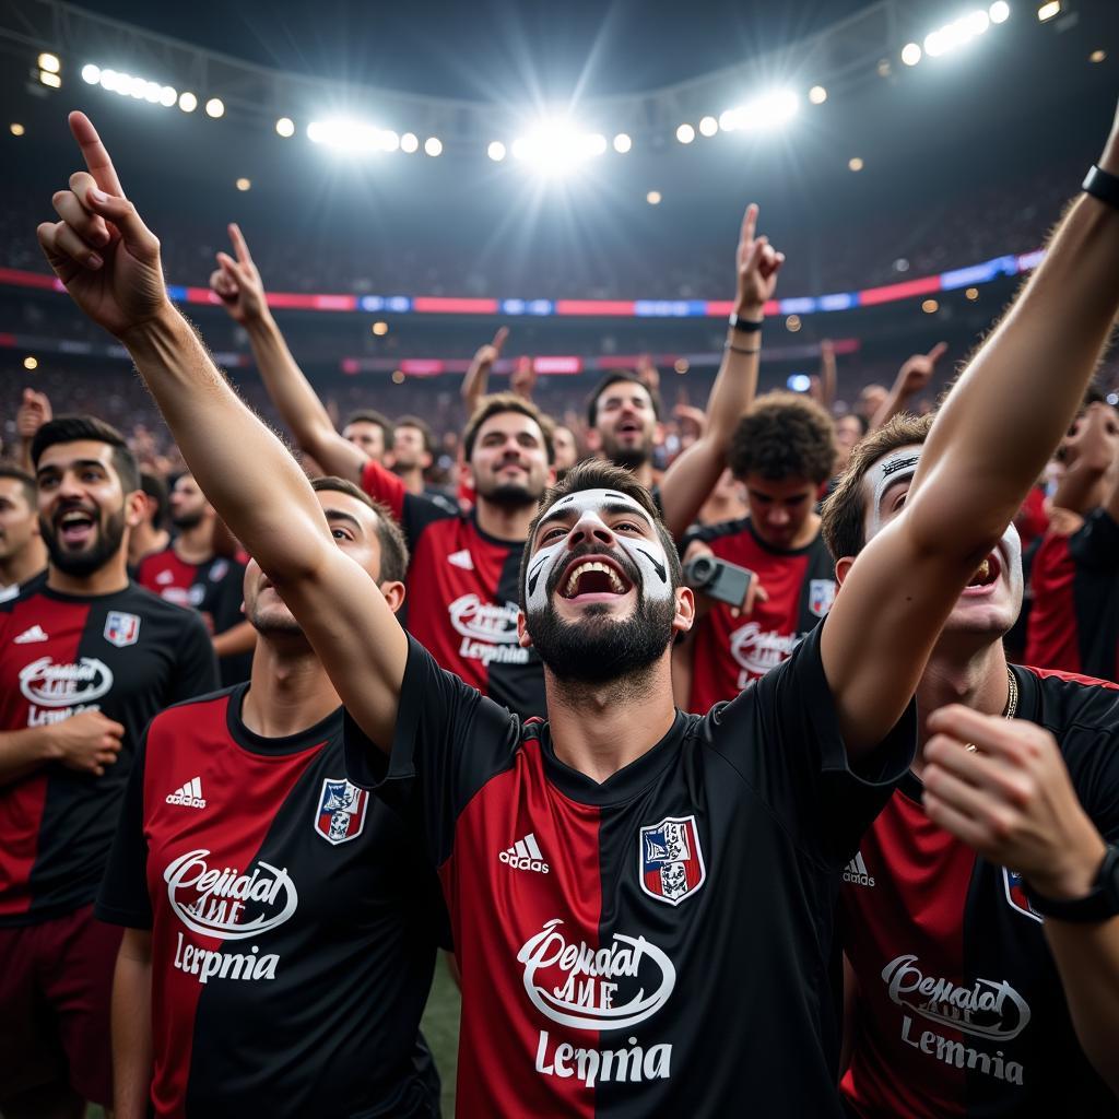
[{"label": "central face-painted man's raised left-hand arm with pointing finger", "polygon": [[299,619],[347,708],[388,749],[407,640],[369,575],[338,548],[310,483],[241,402],[163,286],[159,242],[125,199],[88,119],[70,114],[88,172],[55,196],[39,243],[70,298],[119,338],[190,472]]}]

